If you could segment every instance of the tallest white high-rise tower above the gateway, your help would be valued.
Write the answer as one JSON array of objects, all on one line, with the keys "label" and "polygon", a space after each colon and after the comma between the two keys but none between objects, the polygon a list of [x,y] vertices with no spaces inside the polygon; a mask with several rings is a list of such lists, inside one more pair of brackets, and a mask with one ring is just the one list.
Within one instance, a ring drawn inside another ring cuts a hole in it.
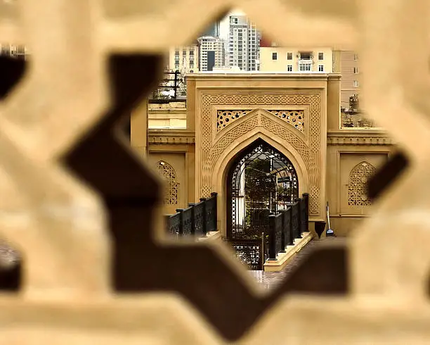
[{"label": "tallest white high-rise tower above the gateway", "polygon": [[260,33],[245,15],[230,15],[227,54],[230,67],[260,69]]}]

